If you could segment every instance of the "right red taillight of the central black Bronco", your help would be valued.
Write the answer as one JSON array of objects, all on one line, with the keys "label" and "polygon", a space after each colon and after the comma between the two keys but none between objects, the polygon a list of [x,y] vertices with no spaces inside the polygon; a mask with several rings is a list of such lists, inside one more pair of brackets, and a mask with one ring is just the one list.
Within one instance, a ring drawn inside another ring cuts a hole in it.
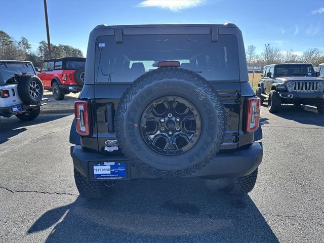
[{"label": "right red taillight of the central black Bronco", "polygon": [[260,121],[260,98],[253,97],[247,100],[246,132],[258,129]]}]

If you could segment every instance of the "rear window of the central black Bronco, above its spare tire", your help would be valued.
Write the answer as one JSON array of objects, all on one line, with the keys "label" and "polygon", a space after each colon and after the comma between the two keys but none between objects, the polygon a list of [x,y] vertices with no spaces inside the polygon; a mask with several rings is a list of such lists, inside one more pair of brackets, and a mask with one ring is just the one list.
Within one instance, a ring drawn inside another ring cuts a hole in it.
[{"label": "rear window of the central black Bronco, above its spare tire", "polygon": [[133,82],[157,68],[159,61],[174,60],[207,80],[238,80],[238,51],[234,35],[210,34],[100,36],[96,43],[96,82]]}]

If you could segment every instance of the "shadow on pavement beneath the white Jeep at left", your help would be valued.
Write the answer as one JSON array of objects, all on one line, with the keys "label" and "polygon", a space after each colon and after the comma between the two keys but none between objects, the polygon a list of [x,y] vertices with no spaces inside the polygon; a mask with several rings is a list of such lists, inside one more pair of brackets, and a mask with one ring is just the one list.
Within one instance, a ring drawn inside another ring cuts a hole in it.
[{"label": "shadow on pavement beneath the white Jeep at left", "polygon": [[25,132],[26,127],[47,123],[65,117],[66,115],[39,115],[34,120],[22,121],[16,117],[0,118],[0,144],[7,142],[11,137],[14,137],[22,132]]}]

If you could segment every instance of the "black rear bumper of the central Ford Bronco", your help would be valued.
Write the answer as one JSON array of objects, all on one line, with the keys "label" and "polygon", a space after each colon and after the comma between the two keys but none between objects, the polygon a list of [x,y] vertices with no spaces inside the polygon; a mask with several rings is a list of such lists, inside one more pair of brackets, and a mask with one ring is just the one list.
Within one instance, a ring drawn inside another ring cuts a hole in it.
[{"label": "black rear bumper of the central Ford Bronco", "polygon": [[[246,176],[251,174],[262,161],[262,144],[254,142],[249,148],[237,150],[232,153],[220,153],[203,169],[186,177],[203,178],[228,178]],[[74,168],[89,181],[96,181],[93,178],[93,163],[123,161],[127,163],[127,180],[157,177],[143,172],[141,169],[130,165],[124,155],[111,154],[105,155],[97,152],[84,150],[80,145],[71,146],[71,156]]]}]

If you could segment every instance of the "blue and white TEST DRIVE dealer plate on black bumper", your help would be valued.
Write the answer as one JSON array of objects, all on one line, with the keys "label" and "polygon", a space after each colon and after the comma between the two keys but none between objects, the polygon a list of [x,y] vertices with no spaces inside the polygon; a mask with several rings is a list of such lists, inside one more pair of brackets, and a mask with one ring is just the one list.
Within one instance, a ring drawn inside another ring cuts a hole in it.
[{"label": "blue and white TEST DRIVE dealer plate on black bumper", "polygon": [[93,164],[93,177],[97,179],[126,178],[126,163],[103,162]]}]

